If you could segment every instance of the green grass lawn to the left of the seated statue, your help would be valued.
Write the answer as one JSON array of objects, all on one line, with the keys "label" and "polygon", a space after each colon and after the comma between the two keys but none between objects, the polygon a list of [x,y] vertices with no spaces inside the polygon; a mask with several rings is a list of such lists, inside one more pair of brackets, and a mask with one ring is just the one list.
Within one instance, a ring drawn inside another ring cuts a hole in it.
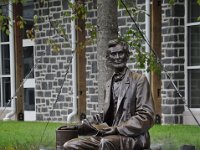
[{"label": "green grass lawn to the left of the seated statue", "polygon": [[0,122],[0,150],[39,150],[39,147],[55,149],[55,131],[61,123],[46,122]]}]

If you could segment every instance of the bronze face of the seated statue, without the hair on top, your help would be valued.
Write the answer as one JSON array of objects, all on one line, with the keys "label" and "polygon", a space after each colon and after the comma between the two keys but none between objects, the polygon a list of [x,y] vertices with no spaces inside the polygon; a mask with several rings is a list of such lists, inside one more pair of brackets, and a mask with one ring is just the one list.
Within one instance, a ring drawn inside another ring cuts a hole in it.
[{"label": "bronze face of the seated statue, without the hair on top", "polygon": [[127,55],[121,45],[118,44],[115,47],[110,47],[108,50],[108,59],[110,61],[111,67],[114,69],[121,69],[126,66]]}]

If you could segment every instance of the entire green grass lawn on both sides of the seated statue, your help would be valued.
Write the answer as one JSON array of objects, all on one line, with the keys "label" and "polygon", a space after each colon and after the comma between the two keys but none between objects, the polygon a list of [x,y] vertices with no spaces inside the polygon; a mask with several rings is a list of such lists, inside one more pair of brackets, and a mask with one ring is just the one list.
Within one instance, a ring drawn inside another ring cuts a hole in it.
[{"label": "entire green grass lawn on both sides of the seated statue", "polygon": [[[50,123],[41,141],[46,122],[0,121],[0,150],[39,150],[39,147],[56,147],[56,129],[62,123]],[[179,150],[184,144],[200,150],[200,128],[186,125],[155,125],[151,130],[151,143],[162,150]],[[40,142],[41,141],[41,142]]]}]

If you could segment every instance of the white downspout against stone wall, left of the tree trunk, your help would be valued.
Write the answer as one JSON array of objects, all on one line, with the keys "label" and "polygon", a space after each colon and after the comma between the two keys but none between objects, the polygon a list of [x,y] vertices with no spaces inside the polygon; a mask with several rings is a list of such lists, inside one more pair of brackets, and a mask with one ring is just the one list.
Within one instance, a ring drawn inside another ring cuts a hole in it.
[{"label": "white downspout against stone wall, left of the tree trunk", "polygon": [[[75,0],[71,0],[74,4]],[[71,9],[71,15],[73,15],[73,10]],[[71,17],[72,18],[72,17]],[[71,34],[72,34],[72,88],[73,88],[73,111],[67,116],[67,122],[70,123],[73,116],[77,114],[77,80],[76,80],[76,29],[75,29],[75,19],[71,19]]]}]

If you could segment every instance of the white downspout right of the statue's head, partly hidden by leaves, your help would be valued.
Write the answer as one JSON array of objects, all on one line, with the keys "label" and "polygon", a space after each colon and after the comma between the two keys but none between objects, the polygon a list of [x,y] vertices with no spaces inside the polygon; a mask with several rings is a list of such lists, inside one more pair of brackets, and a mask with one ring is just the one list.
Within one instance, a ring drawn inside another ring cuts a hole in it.
[{"label": "white downspout right of the statue's head, partly hidden by leaves", "polygon": [[[146,15],[145,15],[145,25],[146,25],[146,39],[147,41],[150,43],[150,28],[151,28],[151,24],[150,24],[150,0],[146,0]],[[150,53],[150,46],[148,45],[148,43],[145,43],[145,49],[147,53]],[[146,65],[146,69],[147,69],[147,65]],[[150,82],[150,73],[146,72],[146,76],[148,81]]]}]

